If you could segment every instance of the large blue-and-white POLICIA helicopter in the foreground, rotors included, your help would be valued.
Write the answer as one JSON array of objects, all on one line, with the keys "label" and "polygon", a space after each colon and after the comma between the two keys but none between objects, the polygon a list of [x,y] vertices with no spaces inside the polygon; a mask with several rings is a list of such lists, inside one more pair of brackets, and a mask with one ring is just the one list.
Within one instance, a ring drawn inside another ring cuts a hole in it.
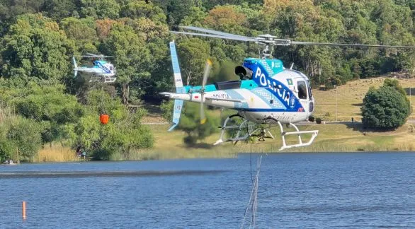
[{"label": "large blue-and-white POLICIA helicopter in the foreground, rotors included", "polygon": [[[214,145],[232,141],[244,141],[251,136],[258,137],[258,141],[265,139],[275,139],[271,134],[271,127],[279,127],[283,146],[280,151],[293,148],[309,146],[317,137],[318,130],[300,131],[295,123],[307,122],[314,112],[315,101],[312,95],[312,88],[309,78],[300,71],[289,69],[283,66],[283,61],[273,59],[271,52],[274,46],[288,45],[331,45],[331,46],[350,46],[350,47],[380,47],[380,48],[415,48],[409,46],[393,45],[361,45],[361,44],[341,44],[341,43],[319,43],[301,42],[288,39],[278,39],[273,35],[259,35],[258,37],[246,37],[223,33],[206,28],[193,26],[181,26],[193,32],[171,33],[181,35],[195,35],[203,37],[215,37],[227,40],[238,40],[242,42],[255,42],[263,46],[260,58],[245,58],[240,66],[234,69],[234,74],[240,77],[237,81],[215,82],[206,85],[212,63],[208,60],[203,74],[201,86],[183,86],[181,71],[178,65],[175,42],[170,42],[171,62],[174,71],[174,83],[176,93],[160,93],[168,98],[174,99],[173,125],[169,131],[173,130],[180,120],[183,101],[200,103],[200,124],[203,124],[205,112],[203,105],[220,107],[222,109],[235,110],[237,113],[227,117],[223,124],[220,138]],[[196,32],[196,33],[195,33]],[[271,48],[271,49],[270,49]],[[240,119],[241,122],[236,122]],[[232,121],[232,122],[231,122]],[[258,125],[260,124],[260,125]],[[284,125],[292,127],[294,131],[284,131]],[[234,129],[234,135],[227,137],[226,131]],[[236,134],[235,134],[236,132]],[[307,142],[303,142],[301,136],[311,134]],[[298,142],[289,144],[285,141],[285,136],[297,135]]]}]

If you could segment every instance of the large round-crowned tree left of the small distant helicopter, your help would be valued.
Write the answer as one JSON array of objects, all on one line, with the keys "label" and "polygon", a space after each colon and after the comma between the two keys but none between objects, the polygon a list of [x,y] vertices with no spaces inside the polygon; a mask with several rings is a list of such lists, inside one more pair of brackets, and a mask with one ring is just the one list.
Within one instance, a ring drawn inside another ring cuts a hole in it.
[{"label": "large round-crowned tree left of the small distant helicopter", "polygon": [[57,83],[69,76],[74,43],[50,18],[41,14],[19,16],[3,44],[1,75],[6,78]]}]

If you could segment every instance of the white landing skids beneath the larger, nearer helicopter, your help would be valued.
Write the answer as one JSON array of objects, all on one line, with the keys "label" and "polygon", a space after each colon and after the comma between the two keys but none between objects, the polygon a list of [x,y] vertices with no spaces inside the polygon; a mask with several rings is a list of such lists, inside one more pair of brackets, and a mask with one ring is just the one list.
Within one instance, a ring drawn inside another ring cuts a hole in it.
[{"label": "white landing skids beneath the larger, nearer helicopter", "polygon": [[[228,124],[229,121],[231,121],[235,117],[239,117],[239,119],[242,121],[241,124],[231,124],[231,125],[229,125]],[[297,126],[295,126],[295,124],[292,124],[292,123],[290,123],[289,125],[291,127],[293,127],[295,129],[295,131],[285,132],[284,129],[283,129],[283,124],[281,124],[278,120],[276,120],[272,117],[269,117],[265,120],[268,120],[268,119],[273,120],[280,127],[281,137],[283,139],[283,146],[280,148],[280,151],[282,151],[286,148],[309,146],[309,145],[312,144],[314,139],[317,137],[317,134],[319,134],[318,130],[300,131],[297,128]],[[269,124],[268,128],[259,127],[258,124],[255,124],[253,122],[250,122],[247,119],[244,119],[239,114],[233,114],[233,115],[227,117],[227,119],[224,120],[223,126],[220,127],[222,129],[222,131],[220,133],[220,138],[219,138],[219,140],[217,140],[215,142],[214,145],[218,145],[220,143],[229,142],[229,141],[232,141],[236,144],[238,141],[244,141],[246,139],[249,139],[249,137],[252,137],[252,136],[257,137],[258,141],[265,141],[265,139],[275,139],[273,134],[271,134],[271,131],[269,131],[269,129],[271,127],[272,127],[271,124]],[[234,134],[234,137],[226,138],[225,134],[229,130],[236,130],[237,131],[236,134]],[[285,136],[286,135],[292,135],[292,134],[297,134],[298,135],[298,143],[297,144],[291,144],[290,145],[290,144],[286,143]],[[301,139],[301,134],[312,134],[312,137],[311,137],[311,139],[309,139],[309,141],[307,141],[306,143],[303,143],[302,139]]]}]

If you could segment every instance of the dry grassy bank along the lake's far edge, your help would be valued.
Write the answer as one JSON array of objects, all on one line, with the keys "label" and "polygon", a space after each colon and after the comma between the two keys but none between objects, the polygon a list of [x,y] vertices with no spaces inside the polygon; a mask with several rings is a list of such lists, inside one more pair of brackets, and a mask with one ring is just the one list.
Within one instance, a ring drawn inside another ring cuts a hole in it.
[{"label": "dry grassy bank along the lake's far edge", "polygon": [[[188,148],[183,143],[186,136],[182,131],[167,131],[169,125],[152,125],[155,138],[154,147],[134,151],[127,157],[113,155],[112,160],[161,160],[176,158],[233,158],[237,153],[278,153],[278,152],[351,152],[351,151],[415,151],[415,124],[405,124],[394,131],[370,131],[363,129],[361,124],[311,124],[300,126],[302,130],[319,130],[319,135],[312,146],[290,148],[278,151],[282,141],[278,129],[271,129],[275,139],[267,139],[254,143],[240,142],[236,145],[224,143],[212,146],[219,134],[214,134],[199,143],[196,147]],[[307,139],[307,136],[305,136]],[[297,136],[288,136],[287,141],[295,143]],[[70,148],[48,146],[35,156],[34,162],[76,161],[75,153]]]}]

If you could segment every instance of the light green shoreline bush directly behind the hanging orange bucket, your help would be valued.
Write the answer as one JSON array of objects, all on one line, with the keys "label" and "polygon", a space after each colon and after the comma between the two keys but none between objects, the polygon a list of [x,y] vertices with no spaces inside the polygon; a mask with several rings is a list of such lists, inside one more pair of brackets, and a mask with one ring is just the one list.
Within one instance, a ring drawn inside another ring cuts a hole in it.
[{"label": "light green shoreline bush directly behind the hanging orange bucket", "polygon": [[[132,150],[152,147],[151,131],[140,124],[145,110],[130,113],[118,98],[110,98],[100,90],[88,93],[86,106],[88,112],[73,126],[72,146],[81,146],[87,155],[102,160],[108,160],[113,153],[128,159]],[[102,110],[110,115],[106,125],[99,122],[98,114]]]}]

